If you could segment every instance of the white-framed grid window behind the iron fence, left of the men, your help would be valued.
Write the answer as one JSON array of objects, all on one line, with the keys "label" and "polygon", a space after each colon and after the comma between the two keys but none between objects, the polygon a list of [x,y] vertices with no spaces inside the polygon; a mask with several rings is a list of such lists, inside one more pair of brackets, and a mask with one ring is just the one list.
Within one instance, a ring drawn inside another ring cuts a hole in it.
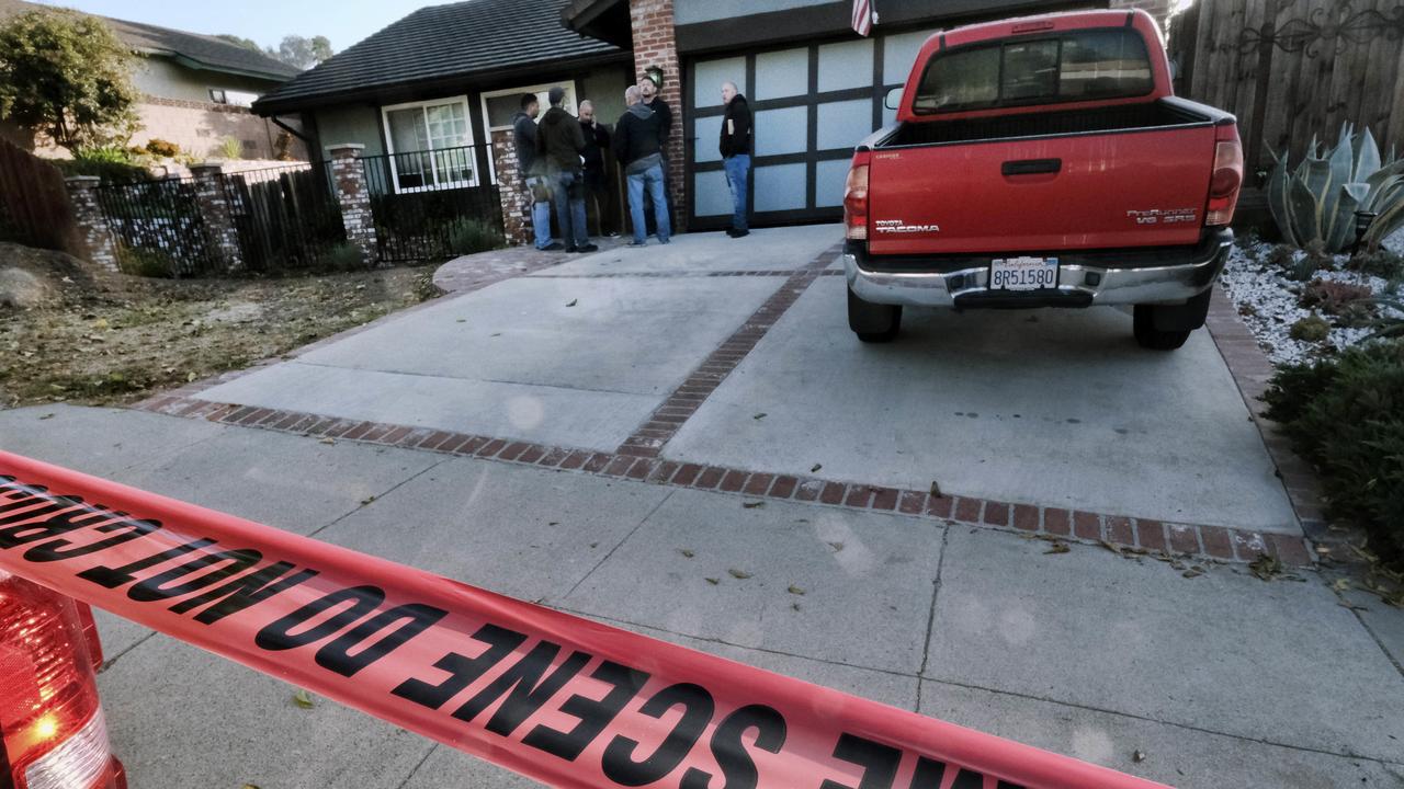
[{"label": "white-framed grid window behind the iron fence, left of the men", "polygon": [[477,185],[468,97],[382,107],[380,115],[396,191]]}]

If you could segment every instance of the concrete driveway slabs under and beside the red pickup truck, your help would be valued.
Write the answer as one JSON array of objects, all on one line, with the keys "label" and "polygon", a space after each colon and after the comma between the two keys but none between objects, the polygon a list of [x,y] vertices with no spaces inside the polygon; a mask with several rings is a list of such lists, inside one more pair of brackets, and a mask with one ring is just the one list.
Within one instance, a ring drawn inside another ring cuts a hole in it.
[{"label": "concrete driveway slabs under and beside the red pickup truck", "polygon": [[[863,345],[830,264],[838,240],[809,226],[563,257],[199,397],[1300,535],[1207,331],[1167,354],[1139,348],[1113,309],[908,310],[897,343]],[[689,389],[708,375],[720,385]],[[680,399],[696,407],[660,411]]]}]

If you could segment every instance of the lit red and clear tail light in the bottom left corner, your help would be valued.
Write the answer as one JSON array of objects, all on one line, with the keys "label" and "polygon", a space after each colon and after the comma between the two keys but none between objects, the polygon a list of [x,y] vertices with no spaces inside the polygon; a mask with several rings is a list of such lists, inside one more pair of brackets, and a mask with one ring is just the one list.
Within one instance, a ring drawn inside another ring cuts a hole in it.
[{"label": "lit red and clear tail light in the bottom left corner", "polygon": [[[125,789],[77,604],[0,571],[0,785]],[[11,783],[13,782],[13,783]]]}]

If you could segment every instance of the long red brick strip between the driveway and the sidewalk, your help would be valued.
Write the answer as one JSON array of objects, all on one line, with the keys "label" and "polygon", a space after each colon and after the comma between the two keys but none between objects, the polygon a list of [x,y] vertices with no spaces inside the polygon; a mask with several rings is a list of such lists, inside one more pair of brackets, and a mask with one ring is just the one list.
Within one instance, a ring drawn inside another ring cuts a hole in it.
[{"label": "long red brick strip between the driveway and the sidewalk", "polygon": [[314,438],[441,452],[461,458],[491,459],[673,487],[716,490],[761,500],[803,501],[845,510],[894,512],[914,518],[938,519],[952,525],[1014,531],[1052,541],[1105,543],[1118,553],[1188,556],[1214,562],[1254,562],[1262,555],[1269,555],[1287,566],[1311,564],[1311,553],[1306,541],[1290,535],[1167,524],[1150,518],[1009,504],[966,496],[932,496],[922,490],[684,463],[623,452],[591,452],[431,427],[380,424],[236,403],[213,403],[174,393],[153,397],[138,407],[157,414],[202,418]]}]

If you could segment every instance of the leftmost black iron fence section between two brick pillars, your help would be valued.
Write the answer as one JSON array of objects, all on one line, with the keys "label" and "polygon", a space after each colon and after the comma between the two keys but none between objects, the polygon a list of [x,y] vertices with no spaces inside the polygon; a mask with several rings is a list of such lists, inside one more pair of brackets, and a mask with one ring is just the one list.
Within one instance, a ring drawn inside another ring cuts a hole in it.
[{"label": "leftmost black iron fence section between two brick pillars", "polygon": [[195,277],[223,270],[205,233],[194,178],[114,184],[95,191],[125,271]]}]

